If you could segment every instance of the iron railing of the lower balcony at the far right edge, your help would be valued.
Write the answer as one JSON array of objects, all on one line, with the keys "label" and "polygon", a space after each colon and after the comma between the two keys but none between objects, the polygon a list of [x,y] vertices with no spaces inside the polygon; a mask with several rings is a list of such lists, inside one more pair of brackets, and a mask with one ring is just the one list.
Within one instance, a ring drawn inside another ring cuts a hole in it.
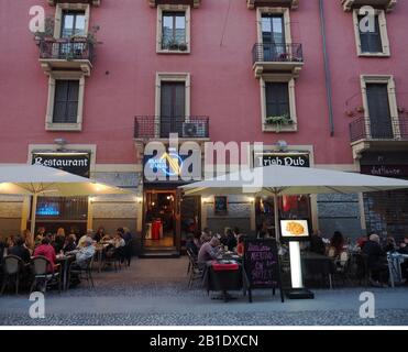
[{"label": "iron railing of the lower balcony at the far right edge", "polygon": [[408,141],[408,119],[389,118],[377,122],[370,118],[359,118],[350,123],[351,142],[357,141]]}]

